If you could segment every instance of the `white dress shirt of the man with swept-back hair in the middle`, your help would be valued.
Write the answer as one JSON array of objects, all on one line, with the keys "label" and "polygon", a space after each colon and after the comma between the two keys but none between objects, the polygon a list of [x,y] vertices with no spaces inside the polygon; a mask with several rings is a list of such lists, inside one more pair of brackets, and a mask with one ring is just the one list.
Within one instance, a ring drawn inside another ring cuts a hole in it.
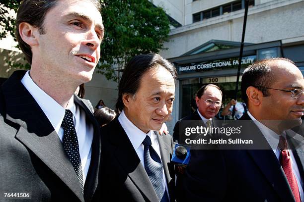
[{"label": "white dress shirt of the man with swept-back hair in the middle", "polygon": [[[141,129],[136,127],[126,116],[124,110],[122,110],[121,114],[118,117],[118,121],[127,133],[127,136],[129,140],[132,143],[132,146],[134,150],[136,151],[138,157],[141,160],[142,165],[145,167],[145,161],[144,161],[144,145],[142,144],[143,141],[145,140],[146,136],[148,135],[151,138],[152,142],[152,148],[155,150],[155,152],[158,154],[159,157],[160,155],[160,149],[159,149],[159,144],[157,141],[157,135],[153,131],[149,131],[147,134],[144,133]],[[167,187],[167,181],[166,177],[164,174],[164,170],[162,168],[162,180],[163,184],[166,188],[167,195],[168,194],[168,187]]]}]

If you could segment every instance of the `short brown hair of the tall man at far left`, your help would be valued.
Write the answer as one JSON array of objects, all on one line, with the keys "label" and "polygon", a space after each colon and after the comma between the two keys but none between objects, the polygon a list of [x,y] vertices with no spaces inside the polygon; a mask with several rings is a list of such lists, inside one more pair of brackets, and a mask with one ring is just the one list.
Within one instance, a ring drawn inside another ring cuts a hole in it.
[{"label": "short brown hair of the tall man at far left", "polygon": [[[39,28],[40,34],[45,34],[43,22],[46,13],[57,4],[58,0],[22,0],[18,8],[16,17],[16,39],[19,47],[25,55],[25,59],[28,63],[32,63],[32,50],[31,47],[26,44],[19,33],[19,25],[22,22],[27,22],[30,25]],[[99,0],[90,0],[98,11],[101,11],[101,5]]]}]

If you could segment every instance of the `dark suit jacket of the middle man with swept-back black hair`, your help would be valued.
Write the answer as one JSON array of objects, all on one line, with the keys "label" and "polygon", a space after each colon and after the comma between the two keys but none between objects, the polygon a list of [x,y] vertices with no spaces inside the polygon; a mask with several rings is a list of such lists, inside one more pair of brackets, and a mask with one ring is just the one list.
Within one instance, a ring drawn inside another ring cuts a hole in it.
[{"label": "dark suit jacket of the middle man with swept-back black hair", "polygon": [[[118,116],[101,128],[102,155],[100,164],[100,189],[103,201],[158,202],[147,172],[142,165]],[[173,153],[171,135],[157,135],[167,180],[170,201],[174,201],[174,166],[170,164]]]}]

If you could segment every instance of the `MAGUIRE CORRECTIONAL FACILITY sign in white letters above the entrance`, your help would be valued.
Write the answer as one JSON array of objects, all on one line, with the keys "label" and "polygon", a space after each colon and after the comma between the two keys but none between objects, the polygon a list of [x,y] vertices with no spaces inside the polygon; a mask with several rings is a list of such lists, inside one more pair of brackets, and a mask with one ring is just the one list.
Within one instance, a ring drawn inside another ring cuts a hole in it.
[{"label": "MAGUIRE CORRECTIONAL FACILITY sign in white letters above the entrance", "polygon": [[[256,55],[242,57],[242,67],[252,64],[256,60]],[[224,60],[204,61],[191,64],[179,65],[179,73],[201,72],[213,69],[237,68],[238,58],[229,58]]]}]

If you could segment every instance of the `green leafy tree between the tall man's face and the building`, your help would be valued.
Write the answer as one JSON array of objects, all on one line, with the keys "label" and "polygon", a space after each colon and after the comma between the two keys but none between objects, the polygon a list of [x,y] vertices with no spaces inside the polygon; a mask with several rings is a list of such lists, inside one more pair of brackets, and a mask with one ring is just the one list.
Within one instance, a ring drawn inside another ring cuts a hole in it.
[{"label": "green leafy tree between the tall man's face and the building", "polygon": [[122,69],[131,57],[163,49],[170,31],[160,7],[148,0],[103,0],[104,40],[97,66],[107,79],[118,81],[114,68]]}]

